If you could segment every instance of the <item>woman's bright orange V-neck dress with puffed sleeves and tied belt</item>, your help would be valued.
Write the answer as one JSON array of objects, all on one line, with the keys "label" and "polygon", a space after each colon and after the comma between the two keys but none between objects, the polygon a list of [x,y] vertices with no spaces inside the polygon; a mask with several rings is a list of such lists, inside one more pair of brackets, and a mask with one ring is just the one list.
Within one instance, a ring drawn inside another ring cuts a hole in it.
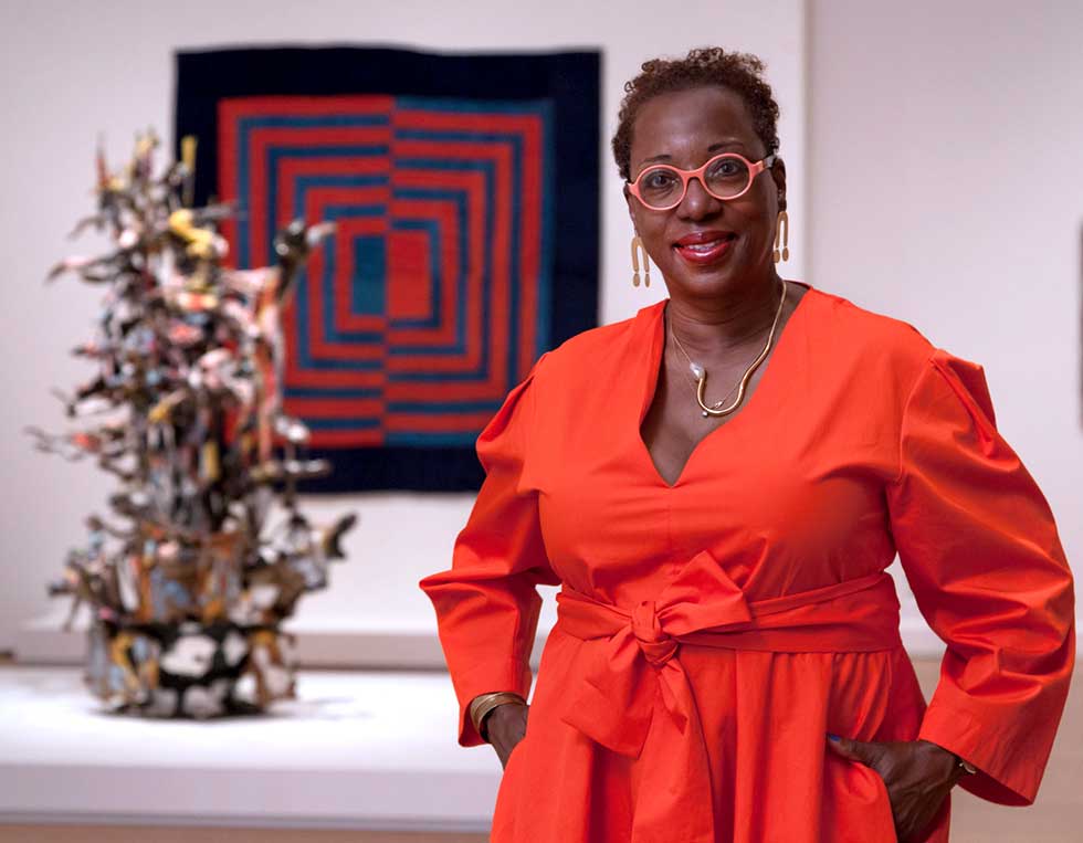
[{"label": "woman's bright orange V-neck dress with puffed sleeves and tied belt", "polygon": [[[451,569],[420,582],[462,746],[481,742],[471,699],[527,696],[535,587],[561,587],[492,840],[894,841],[883,780],[826,733],[934,741],[979,768],[961,787],[1032,802],[1073,581],[981,367],[810,287],[671,486],[640,435],[664,308],[543,355],[477,440],[486,480]],[[927,707],[884,572],[896,551],[947,644]],[[925,840],[948,839],[949,812]]]}]

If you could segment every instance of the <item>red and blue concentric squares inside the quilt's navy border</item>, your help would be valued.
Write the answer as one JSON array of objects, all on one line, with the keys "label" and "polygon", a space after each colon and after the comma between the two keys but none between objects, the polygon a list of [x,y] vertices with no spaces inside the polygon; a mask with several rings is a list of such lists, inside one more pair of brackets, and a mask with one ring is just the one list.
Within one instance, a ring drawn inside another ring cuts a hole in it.
[{"label": "red and blue concentric squares inside the quilt's navy border", "polygon": [[218,127],[239,267],[292,219],[337,223],[284,316],[313,446],[472,445],[549,347],[549,102],[225,98]]}]

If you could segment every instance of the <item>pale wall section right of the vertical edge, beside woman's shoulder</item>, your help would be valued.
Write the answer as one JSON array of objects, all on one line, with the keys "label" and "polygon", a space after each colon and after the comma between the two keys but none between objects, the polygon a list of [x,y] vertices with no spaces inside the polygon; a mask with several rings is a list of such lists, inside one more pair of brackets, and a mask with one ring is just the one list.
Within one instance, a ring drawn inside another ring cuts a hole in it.
[{"label": "pale wall section right of the vertical edge, beside woman's shoulder", "polygon": [[1083,4],[812,0],[810,280],[985,366],[1083,572]]}]

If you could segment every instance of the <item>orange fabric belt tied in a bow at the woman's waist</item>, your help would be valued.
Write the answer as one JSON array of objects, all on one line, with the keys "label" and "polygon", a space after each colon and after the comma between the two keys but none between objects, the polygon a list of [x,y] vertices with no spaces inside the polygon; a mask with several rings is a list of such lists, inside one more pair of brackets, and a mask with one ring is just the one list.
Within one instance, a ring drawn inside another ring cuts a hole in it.
[{"label": "orange fabric belt tied in a bow at the woman's waist", "polygon": [[556,629],[583,642],[561,719],[629,758],[664,744],[641,759],[633,843],[715,839],[707,748],[681,644],[775,653],[902,645],[895,584],[884,571],[749,601],[707,551],[688,560],[656,600],[630,609],[565,584]]}]

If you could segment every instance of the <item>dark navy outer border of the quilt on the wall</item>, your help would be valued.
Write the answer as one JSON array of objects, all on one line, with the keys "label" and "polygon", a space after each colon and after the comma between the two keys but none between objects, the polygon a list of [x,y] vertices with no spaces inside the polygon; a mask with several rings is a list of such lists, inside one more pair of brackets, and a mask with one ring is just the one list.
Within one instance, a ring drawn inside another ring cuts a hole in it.
[{"label": "dark navy outer border of the quilt on the wall", "polygon": [[[218,102],[225,97],[550,99],[556,221],[550,347],[598,324],[600,51],[455,55],[390,48],[257,48],[179,52],[176,69],[178,157],[186,135],[218,137]],[[217,196],[217,144],[202,143],[197,203]],[[302,484],[307,493],[464,492],[476,491],[484,480],[473,446],[312,449],[311,455],[330,460],[335,472]]]}]

